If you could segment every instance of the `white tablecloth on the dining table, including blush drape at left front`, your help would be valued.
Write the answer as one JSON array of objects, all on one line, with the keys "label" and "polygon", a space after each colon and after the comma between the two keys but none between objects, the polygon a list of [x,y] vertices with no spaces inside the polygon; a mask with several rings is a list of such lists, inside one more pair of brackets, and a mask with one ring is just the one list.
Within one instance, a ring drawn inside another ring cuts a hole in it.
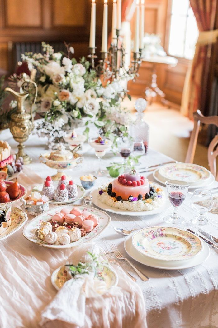
[{"label": "white tablecloth on the dining table, including blush drape at left front", "polygon": [[[7,140],[12,149],[16,150],[16,142],[8,130],[0,133],[0,139]],[[36,135],[30,136],[25,143],[26,152],[33,158],[29,168],[41,177],[55,173],[55,170],[52,171],[39,163],[39,155],[45,151],[45,143],[46,139]],[[93,150],[89,147],[86,149],[88,150],[84,155],[82,167],[69,171],[78,184],[81,174],[90,173],[92,168],[97,167],[97,158]],[[103,158],[102,165],[106,166],[114,160],[121,161],[121,158],[113,157],[110,152]],[[168,160],[169,157],[149,150],[147,156],[142,157],[140,166]],[[145,175],[153,180],[152,174]],[[99,178],[97,184],[109,180],[109,176]],[[214,182],[210,188],[217,185]],[[190,195],[187,195],[180,208],[185,223],[178,227],[184,229],[189,227],[197,231],[197,227],[190,222],[193,210],[189,208],[189,199]],[[114,227],[130,230],[154,225],[166,226],[163,222],[166,213],[149,216],[109,214],[111,216],[109,227],[95,241],[104,249],[109,249],[110,243],[113,242],[125,255],[124,237],[116,234]],[[213,214],[207,216],[209,224],[203,229],[218,237],[218,216]],[[64,263],[70,250],[52,250],[35,245],[23,237],[22,229],[0,242],[0,247],[0,327],[38,327],[42,309],[56,294],[50,280],[51,273]],[[159,270],[143,266],[132,259],[131,261],[150,277],[149,281],[143,282],[131,267],[122,262],[125,269],[137,278],[137,283],[143,290],[149,328],[218,327],[217,251],[210,248],[208,260],[186,270]]]}]

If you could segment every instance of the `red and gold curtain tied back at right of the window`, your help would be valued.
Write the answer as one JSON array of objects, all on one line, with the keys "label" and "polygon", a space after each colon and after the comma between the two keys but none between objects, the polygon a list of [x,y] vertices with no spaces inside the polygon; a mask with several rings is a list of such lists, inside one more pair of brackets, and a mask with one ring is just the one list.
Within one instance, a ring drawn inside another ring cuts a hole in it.
[{"label": "red and gold curtain tied back at right of the window", "polygon": [[218,30],[215,30],[217,0],[190,0],[190,5],[197,21],[199,37],[191,71],[184,86],[181,111],[192,118],[197,109],[205,113],[210,89],[211,60],[214,60]]}]

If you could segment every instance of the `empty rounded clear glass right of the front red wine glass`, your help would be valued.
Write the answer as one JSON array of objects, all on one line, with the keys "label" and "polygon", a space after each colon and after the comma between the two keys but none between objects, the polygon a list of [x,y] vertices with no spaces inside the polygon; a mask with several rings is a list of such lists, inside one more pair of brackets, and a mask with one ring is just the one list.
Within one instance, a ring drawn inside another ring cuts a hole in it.
[{"label": "empty rounded clear glass right of the front red wine glass", "polygon": [[198,212],[198,217],[193,217],[192,223],[197,225],[207,224],[208,219],[204,216],[204,213],[209,212],[213,207],[213,196],[211,191],[202,188],[195,189],[190,203],[193,209]]}]

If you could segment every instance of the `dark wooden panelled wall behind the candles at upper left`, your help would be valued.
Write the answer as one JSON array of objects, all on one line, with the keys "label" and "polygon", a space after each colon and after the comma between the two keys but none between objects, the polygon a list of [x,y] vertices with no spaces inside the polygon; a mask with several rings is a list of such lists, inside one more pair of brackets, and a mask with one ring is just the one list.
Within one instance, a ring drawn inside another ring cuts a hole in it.
[{"label": "dark wooden panelled wall behind the candles at upper left", "polygon": [[[109,6],[109,29],[112,6]],[[101,45],[103,1],[96,1],[96,46]],[[13,72],[13,42],[66,41],[75,57],[88,54],[91,0],[0,0],[0,72]]]}]

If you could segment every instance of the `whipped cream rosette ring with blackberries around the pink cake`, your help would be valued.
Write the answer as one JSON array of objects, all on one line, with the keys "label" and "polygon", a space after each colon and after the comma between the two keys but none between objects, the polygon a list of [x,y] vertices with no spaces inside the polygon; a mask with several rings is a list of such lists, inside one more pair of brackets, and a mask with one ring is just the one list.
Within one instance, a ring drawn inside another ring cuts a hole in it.
[{"label": "whipped cream rosette ring with blackberries around the pink cake", "polygon": [[165,195],[163,190],[152,182],[150,182],[150,186],[154,187],[155,195],[150,197],[149,199],[144,200],[136,200],[134,197],[131,197],[132,199],[129,200],[118,201],[115,197],[111,197],[110,195],[108,195],[108,185],[109,183],[104,184],[98,189],[98,199],[103,204],[106,204],[116,209],[132,212],[152,211],[163,205],[165,201]]}]

